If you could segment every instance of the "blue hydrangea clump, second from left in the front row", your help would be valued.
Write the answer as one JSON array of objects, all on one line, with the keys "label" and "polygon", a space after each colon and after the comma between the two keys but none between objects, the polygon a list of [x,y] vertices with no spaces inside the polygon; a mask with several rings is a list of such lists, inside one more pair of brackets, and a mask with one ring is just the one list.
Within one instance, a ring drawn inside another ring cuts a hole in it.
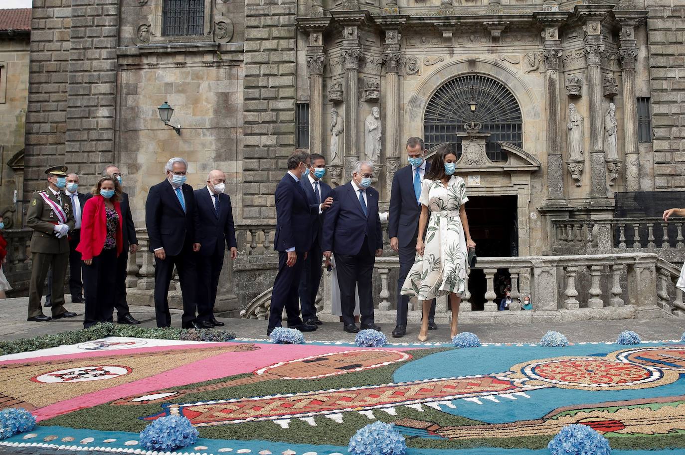
[{"label": "blue hydrangea clump, second from left in the front row", "polygon": [[140,432],[140,445],[147,450],[169,452],[197,441],[199,433],[187,417],[166,415],[153,421]]}]

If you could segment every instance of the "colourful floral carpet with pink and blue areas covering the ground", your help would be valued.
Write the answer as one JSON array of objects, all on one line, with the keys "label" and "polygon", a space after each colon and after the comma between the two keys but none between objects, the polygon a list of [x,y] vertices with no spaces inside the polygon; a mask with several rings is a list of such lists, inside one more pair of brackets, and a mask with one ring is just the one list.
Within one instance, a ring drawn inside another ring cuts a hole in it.
[{"label": "colourful floral carpet with pink and blue areas covering the ground", "polygon": [[2,445],[152,453],[166,415],[200,439],[178,454],[347,453],[394,423],[408,454],[549,454],[561,428],[601,432],[614,454],[685,450],[685,343],[213,343],[108,337],[0,356],[0,408],[38,426]]}]

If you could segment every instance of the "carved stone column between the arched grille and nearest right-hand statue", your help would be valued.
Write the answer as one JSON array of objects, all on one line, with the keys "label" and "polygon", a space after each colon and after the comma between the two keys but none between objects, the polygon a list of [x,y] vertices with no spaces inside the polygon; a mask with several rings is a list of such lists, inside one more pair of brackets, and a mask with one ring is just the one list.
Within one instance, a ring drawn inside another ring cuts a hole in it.
[{"label": "carved stone column between the arched grille and nearest right-hand statue", "polygon": [[562,111],[559,100],[559,60],[562,54],[559,25],[569,16],[567,12],[540,12],[536,19],[545,26],[543,59],[547,83],[547,200],[551,205],[566,204],[564,198],[564,159],[561,148]]}]

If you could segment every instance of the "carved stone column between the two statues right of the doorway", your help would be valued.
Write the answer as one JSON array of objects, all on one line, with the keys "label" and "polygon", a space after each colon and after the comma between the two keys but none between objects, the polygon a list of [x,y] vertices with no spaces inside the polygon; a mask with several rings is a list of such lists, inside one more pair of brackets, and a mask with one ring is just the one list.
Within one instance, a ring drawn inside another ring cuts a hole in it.
[{"label": "carved stone column between the two statues right of the doorway", "polygon": [[[610,7],[608,7],[610,8]],[[606,198],[606,159],[604,157],[604,126],[602,114],[601,51],[604,49],[601,20],[608,9],[604,5],[579,5],[585,19],[585,59],[590,92],[590,197]]]}]

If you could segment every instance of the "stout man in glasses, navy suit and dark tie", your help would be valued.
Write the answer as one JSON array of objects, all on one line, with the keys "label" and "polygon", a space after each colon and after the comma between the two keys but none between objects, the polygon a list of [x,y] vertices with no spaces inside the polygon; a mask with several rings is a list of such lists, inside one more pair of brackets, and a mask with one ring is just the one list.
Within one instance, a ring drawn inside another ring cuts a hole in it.
[{"label": "stout man in glasses, navy suit and dark tie", "polygon": [[355,289],[359,291],[362,329],[380,330],[373,322],[373,264],[383,254],[383,233],[378,213],[378,192],[371,185],[373,163],[357,161],[352,181],[333,190],[333,204],[323,224],[323,255],[336,255],[340,308],[345,332],[357,333],[354,324]]}]

